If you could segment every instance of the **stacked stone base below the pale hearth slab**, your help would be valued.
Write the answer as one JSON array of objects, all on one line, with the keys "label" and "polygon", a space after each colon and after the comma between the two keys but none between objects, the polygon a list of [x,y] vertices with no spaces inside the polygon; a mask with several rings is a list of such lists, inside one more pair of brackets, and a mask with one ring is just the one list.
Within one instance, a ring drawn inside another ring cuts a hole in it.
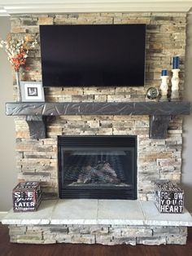
[{"label": "stacked stone base below the pale hearth slab", "polygon": [[187,227],[127,225],[11,225],[13,243],[102,245],[185,245]]}]

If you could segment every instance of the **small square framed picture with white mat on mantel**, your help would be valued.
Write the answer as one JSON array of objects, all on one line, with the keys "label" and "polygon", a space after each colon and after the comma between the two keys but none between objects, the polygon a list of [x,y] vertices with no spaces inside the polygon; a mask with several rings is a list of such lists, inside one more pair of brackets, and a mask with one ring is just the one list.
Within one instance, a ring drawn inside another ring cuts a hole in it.
[{"label": "small square framed picture with white mat on mantel", "polygon": [[21,99],[23,102],[28,101],[45,101],[44,91],[41,82],[20,81]]}]

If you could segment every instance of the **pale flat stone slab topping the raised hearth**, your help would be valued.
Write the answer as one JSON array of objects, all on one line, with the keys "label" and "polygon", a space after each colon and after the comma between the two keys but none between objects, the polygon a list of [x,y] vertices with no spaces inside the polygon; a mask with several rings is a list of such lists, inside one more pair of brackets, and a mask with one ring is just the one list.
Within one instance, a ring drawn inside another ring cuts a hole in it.
[{"label": "pale flat stone slab topping the raised hearth", "polygon": [[42,201],[37,212],[14,213],[11,210],[2,224],[47,225],[155,225],[192,226],[187,210],[183,214],[159,214],[153,201],[68,199]]}]

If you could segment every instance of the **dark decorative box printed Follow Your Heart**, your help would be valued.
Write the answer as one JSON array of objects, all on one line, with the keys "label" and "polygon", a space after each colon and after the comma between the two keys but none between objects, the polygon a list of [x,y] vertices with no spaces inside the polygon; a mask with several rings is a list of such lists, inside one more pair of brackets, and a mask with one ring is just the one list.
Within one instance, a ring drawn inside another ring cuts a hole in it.
[{"label": "dark decorative box printed Follow Your Heart", "polygon": [[160,213],[181,214],[184,206],[184,191],[177,183],[155,183],[155,205]]}]

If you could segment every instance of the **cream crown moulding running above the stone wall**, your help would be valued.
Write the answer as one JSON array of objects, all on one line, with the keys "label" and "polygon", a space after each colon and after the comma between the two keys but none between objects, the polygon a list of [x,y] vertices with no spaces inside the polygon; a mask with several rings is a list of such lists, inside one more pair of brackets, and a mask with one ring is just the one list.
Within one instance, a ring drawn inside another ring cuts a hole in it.
[{"label": "cream crown moulding running above the stone wall", "polygon": [[65,12],[188,12],[192,0],[0,0],[0,15]]}]

